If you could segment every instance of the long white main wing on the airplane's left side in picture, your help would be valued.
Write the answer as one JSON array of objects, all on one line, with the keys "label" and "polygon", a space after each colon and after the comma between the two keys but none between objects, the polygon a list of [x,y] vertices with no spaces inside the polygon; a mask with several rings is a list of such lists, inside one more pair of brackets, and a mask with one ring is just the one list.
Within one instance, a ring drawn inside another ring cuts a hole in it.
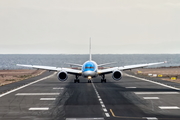
[{"label": "long white main wing on the airplane's left side in picture", "polygon": [[66,71],[69,74],[81,75],[81,70],[71,69],[71,68],[60,68],[60,67],[51,67],[51,66],[40,66],[40,65],[23,65],[17,64],[17,66],[29,67],[35,69],[49,70],[49,71]]}]

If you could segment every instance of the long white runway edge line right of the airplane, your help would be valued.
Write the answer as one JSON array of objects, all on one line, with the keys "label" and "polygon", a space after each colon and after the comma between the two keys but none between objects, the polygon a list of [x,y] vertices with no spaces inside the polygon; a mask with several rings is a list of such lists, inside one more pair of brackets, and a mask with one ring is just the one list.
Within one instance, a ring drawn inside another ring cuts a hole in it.
[{"label": "long white runway edge line right of the airplane", "polygon": [[125,74],[126,76],[129,76],[129,77],[132,77],[132,78],[136,78],[136,79],[139,79],[139,80],[143,80],[143,81],[147,81],[147,82],[151,82],[151,83],[154,83],[154,84],[157,84],[157,85],[161,85],[161,86],[164,86],[164,87],[168,87],[168,88],[171,88],[171,89],[174,89],[174,90],[179,90],[179,88],[176,88],[176,87],[172,87],[172,86],[169,86],[169,85],[165,85],[163,83],[159,83],[159,82],[155,82],[155,81],[151,81],[151,80],[148,80],[148,79],[145,79],[145,78],[140,78],[140,77],[136,77],[136,76],[133,76],[133,75],[129,75],[129,74]]}]

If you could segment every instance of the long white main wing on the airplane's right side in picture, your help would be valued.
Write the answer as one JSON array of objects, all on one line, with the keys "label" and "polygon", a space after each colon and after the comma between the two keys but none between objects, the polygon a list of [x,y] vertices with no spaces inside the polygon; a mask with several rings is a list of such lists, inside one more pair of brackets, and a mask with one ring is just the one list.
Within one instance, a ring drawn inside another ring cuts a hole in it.
[{"label": "long white main wing on the airplane's right side in picture", "polygon": [[147,67],[147,66],[151,66],[151,65],[158,65],[158,64],[163,64],[163,63],[167,63],[165,62],[157,62],[157,63],[147,63],[147,64],[137,64],[137,65],[128,65],[128,66],[123,66],[123,67],[113,67],[113,68],[107,68],[107,69],[102,69],[102,70],[98,70],[98,74],[108,74],[108,73],[112,73],[114,70],[131,70],[131,69],[135,69],[135,68],[143,68],[143,67]]}]

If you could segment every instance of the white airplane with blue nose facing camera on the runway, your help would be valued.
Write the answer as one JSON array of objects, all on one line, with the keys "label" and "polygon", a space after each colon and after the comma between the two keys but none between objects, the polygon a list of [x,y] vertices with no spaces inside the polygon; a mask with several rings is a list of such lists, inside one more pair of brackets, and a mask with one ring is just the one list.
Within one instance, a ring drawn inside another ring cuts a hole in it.
[{"label": "white airplane with blue nose facing camera on the runway", "polygon": [[135,68],[143,68],[151,65],[158,65],[163,64],[165,62],[156,62],[156,63],[147,63],[147,64],[137,64],[137,65],[128,65],[128,66],[121,66],[121,67],[112,67],[112,68],[105,68],[105,69],[98,69],[98,67],[102,67],[112,63],[104,63],[104,64],[97,64],[95,61],[92,60],[91,55],[91,40],[89,46],[89,60],[86,61],[83,65],[81,64],[73,64],[67,63],[72,66],[81,67],[81,70],[72,69],[72,68],[61,68],[61,67],[52,67],[52,66],[39,66],[39,65],[24,65],[24,64],[17,64],[17,66],[23,67],[30,67],[34,69],[43,69],[49,71],[56,71],[58,72],[57,77],[60,81],[66,81],[68,79],[68,74],[75,75],[74,83],[79,83],[79,76],[85,77],[88,79],[88,83],[91,83],[92,78],[97,76],[101,76],[101,83],[106,83],[105,75],[112,73],[112,78],[116,81],[121,80],[124,70],[131,70]]}]

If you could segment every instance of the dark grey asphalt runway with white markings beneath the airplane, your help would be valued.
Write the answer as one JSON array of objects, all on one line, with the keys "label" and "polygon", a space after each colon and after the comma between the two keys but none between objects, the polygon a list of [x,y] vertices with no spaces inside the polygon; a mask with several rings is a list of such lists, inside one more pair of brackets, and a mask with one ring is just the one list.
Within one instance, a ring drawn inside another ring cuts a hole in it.
[{"label": "dark grey asphalt runway with white markings beneath the airplane", "polygon": [[126,74],[120,81],[106,75],[107,83],[74,78],[60,82],[56,73],[45,72],[0,87],[0,120],[180,120],[178,83]]}]

